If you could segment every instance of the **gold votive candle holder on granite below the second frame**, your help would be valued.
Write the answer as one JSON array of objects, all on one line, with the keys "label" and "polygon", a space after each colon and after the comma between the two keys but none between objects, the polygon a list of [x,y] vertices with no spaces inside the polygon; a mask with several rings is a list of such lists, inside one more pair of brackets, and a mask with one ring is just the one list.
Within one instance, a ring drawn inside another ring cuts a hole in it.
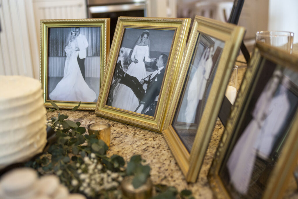
[{"label": "gold votive candle holder on granite below the second frame", "polygon": [[96,135],[97,139],[100,139],[108,145],[110,149],[111,144],[111,124],[105,122],[96,122],[88,126],[89,135]]}]

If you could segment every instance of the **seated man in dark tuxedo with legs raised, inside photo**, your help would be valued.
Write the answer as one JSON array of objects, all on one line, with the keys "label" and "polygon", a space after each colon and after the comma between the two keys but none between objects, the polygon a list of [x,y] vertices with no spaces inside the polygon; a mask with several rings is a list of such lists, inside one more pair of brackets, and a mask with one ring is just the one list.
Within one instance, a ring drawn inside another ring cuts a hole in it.
[{"label": "seated man in dark tuxedo with legs raised, inside photo", "polygon": [[[136,77],[124,73],[121,68],[117,69],[116,67],[116,72],[118,73],[119,78],[121,78],[119,83],[130,87],[140,101],[140,105],[136,111],[138,109],[142,109],[142,114],[150,116],[154,115],[157,105],[156,97],[159,95],[162,87],[167,59],[168,56],[162,53],[156,61],[158,69],[151,73],[148,77],[141,79],[141,81],[138,81]],[[143,89],[143,84],[147,84],[146,90]],[[143,107],[141,106],[142,104]]]}]

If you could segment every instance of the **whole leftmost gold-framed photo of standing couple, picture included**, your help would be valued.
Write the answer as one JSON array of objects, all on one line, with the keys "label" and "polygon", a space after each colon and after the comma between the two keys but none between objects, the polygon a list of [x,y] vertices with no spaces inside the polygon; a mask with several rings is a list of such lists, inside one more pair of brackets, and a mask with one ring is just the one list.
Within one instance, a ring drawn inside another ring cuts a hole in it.
[{"label": "whole leftmost gold-framed photo of standing couple, picture included", "polygon": [[41,20],[40,34],[45,107],[53,107],[52,100],[59,108],[72,109],[81,101],[79,109],[95,110],[109,53],[110,19]]}]

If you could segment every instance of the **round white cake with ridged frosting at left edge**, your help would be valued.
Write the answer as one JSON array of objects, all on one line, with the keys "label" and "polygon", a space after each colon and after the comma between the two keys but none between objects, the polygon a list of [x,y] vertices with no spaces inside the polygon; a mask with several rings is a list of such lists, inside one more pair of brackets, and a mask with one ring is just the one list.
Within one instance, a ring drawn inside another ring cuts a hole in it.
[{"label": "round white cake with ridged frosting at left edge", "polygon": [[42,152],[45,114],[38,80],[0,75],[0,168]]}]

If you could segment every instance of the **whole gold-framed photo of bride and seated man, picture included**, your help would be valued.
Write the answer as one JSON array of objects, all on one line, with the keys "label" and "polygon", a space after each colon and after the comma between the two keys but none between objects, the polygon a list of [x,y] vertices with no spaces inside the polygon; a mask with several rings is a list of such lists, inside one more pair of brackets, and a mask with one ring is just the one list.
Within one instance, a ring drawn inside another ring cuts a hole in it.
[{"label": "whole gold-framed photo of bride and seated man, picture included", "polygon": [[95,114],[161,132],[189,26],[188,18],[119,17]]}]

